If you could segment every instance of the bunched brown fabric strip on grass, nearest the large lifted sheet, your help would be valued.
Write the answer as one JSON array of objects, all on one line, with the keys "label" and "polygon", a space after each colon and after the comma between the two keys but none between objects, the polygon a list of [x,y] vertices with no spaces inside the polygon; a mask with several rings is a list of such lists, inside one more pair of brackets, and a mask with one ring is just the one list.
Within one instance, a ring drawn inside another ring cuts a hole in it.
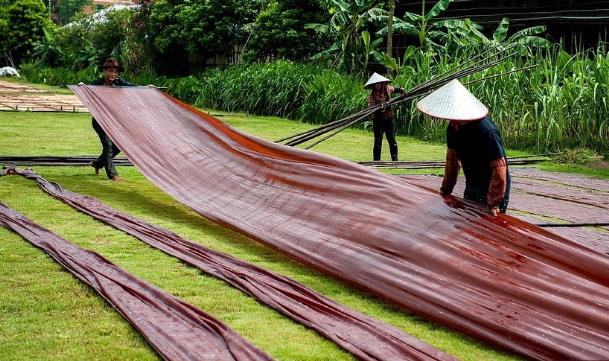
[{"label": "bunched brown fabric strip on grass, nearest the large lifted sheet", "polygon": [[66,190],[32,170],[15,169],[14,172],[35,180],[45,192],[75,209],[218,277],[315,329],[361,360],[454,360],[394,327],[341,306],[287,277],[187,241],[94,198]]}]

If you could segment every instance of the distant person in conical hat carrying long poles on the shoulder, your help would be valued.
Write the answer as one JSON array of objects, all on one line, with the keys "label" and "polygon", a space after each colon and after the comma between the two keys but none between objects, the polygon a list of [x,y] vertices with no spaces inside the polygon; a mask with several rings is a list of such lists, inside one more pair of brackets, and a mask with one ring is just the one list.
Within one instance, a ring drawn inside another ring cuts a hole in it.
[{"label": "distant person in conical hat carrying long poles on the shoulder", "polygon": [[[385,104],[391,99],[393,93],[403,93],[399,87],[389,85],[391,80],[377,73],[372,74],[364,88],[371,89],[368,96],[368,106]],[[381,148],[383,146],[383,133],[389,143],[391,160],[398,160],[398,143],[395,140],[395,113],[391,106],[383,106],[372,116],[372,128],[374,130],[374,146],[372,148],[372,159],[381,160]]]}]

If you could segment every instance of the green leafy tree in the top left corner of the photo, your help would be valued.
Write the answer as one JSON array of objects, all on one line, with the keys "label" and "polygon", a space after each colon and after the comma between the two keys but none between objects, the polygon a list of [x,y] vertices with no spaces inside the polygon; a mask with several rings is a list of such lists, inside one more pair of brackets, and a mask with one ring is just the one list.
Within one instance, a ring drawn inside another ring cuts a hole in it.
[{"label": "green leafy tree in the top left corner of the photo", "polygon": [[12,58],[15,64],[28,57],[36,42],[44,39],[50,29],[49,13],[40,0],[16,0],[0,13],[0,53]]}]

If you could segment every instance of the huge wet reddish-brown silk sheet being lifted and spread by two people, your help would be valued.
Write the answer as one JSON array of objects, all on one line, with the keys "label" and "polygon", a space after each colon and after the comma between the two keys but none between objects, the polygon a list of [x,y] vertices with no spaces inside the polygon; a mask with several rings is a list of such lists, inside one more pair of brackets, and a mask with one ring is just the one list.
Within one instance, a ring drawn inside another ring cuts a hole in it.
[{"label": "huge wet reddish-brown silk sheet being lifted and spread by two people", "polygon": [[72,90],[136,167],[201,215],[537,359],[609,359],[609,258],[408,180],[236,131],[158,90]]}]

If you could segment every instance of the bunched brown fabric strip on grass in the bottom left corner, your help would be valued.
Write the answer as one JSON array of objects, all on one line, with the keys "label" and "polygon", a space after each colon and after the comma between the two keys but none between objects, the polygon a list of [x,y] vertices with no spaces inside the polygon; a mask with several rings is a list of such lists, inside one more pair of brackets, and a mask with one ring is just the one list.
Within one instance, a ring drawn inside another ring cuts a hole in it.
[{"label": "bunched brown fabric strip on grass in the bottom left corner", "polygon": [[222,322],[132,276],[0,203],[3,226],[45,251],[91,286],[165,360],[272,360]]}]

